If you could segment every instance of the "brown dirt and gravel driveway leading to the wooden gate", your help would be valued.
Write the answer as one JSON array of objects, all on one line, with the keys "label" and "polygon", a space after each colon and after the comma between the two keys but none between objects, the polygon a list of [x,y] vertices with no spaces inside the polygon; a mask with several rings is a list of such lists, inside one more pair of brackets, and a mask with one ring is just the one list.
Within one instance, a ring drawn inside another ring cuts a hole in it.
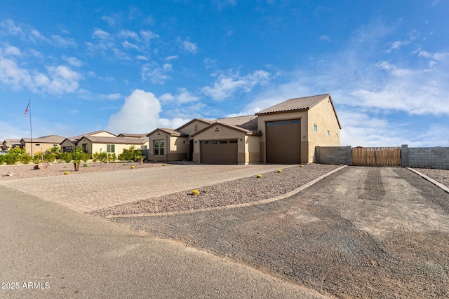
[{"label": "brown dirt and gravel driveway leading to the wooden gate", "polygon": [[449,194],[404,168],[346,167],[270,204],[110,221],[329,297],[449,297]]}]

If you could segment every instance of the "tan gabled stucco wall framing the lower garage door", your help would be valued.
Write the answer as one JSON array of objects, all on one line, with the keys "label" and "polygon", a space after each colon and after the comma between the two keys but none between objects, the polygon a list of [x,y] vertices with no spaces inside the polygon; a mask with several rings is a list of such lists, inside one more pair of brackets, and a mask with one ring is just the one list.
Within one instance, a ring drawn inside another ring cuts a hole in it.
[{"label": "tan gabled stucco wall framing the lower garage door", "polygon": [[[217,129],[218,132],[215,132],[215,130]],[[214,125],[213,127],[210,127],[208,130],[201,132],[194,137],[193,160],[194,162],[201,162],[201,153],[200,153],[201,141],[237,139],[238,163],[246,164],[247,163],[245,156],[246,142],[244,142],[246,140],[245,137],[246,137],[245,132],[239,132],[237,130],[225,127],[224,125],[220,124]],[[240,141],[240,139],[242,140]]]}]

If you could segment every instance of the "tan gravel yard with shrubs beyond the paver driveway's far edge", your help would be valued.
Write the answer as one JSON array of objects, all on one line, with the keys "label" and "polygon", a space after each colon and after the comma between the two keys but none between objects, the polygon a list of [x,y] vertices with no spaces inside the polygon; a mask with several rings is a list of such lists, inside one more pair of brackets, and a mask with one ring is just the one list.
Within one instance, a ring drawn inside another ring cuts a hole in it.
[{"label": "tan gravel yard with shrubs beyond the paver driveway's far edge", "polygon": [[[102,163],[89,162],[88,167],[83,167],[81,163],[79,171],[75,172],[73,163],[52,163],[46,169],[34,169],[35,164],[28,165],[0,165],[0,181],[7,181],[13,179],[28,179],[41,176],[63,176],[64,172],[72,174],[85,174],[87,172],[110,172],[114,170],[129,169],[132,165],[137,168],[158,167],[161,163],[144,163],[138,165],[137,162],[116,162],[116,163]],[[167,165],[168,166],[168,165]],[[13,176],[6,176],[8,172],[13,172]]]}]

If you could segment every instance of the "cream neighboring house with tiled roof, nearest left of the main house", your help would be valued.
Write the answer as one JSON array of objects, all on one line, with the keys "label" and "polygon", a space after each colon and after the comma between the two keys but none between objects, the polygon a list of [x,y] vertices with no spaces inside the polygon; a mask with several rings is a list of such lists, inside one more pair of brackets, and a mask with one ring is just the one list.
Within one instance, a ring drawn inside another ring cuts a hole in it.
[{"label": "cream neighboring house with tiled roof, nearest left of the main house", "polygon": [[116,153],[120,155],[123,149],[135,146],[140,149],[148,145],[147,138],[126,138],[126,137],[101,137],[83,136],[76,142],[76,146],[83,148],[84,153]]}]

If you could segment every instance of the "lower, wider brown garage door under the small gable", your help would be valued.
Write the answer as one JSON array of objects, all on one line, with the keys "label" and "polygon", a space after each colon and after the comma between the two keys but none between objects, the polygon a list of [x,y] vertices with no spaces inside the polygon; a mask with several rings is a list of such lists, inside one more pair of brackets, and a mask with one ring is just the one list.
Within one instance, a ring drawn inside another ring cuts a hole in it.
[{"label": "lower, wider brown garage door under the small gable", "polygon": [[201,163],[237,164],[237,139],[201,141]]}]

